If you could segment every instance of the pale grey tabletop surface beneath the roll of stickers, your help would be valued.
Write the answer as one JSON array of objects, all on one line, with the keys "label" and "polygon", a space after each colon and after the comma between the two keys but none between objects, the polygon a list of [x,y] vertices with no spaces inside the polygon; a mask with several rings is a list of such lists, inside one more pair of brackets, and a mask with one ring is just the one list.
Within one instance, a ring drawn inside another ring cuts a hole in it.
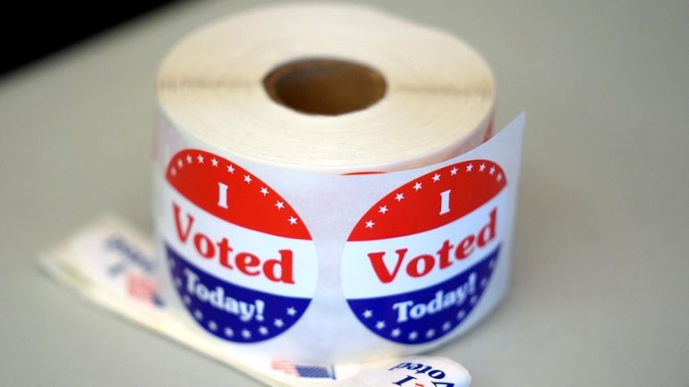
[{"label": "pale grey tabletop surface beneath the roll of stickers", "polygon": [[[0,80],[0,385],[259,385],[35,265],[106,209],[150,227],[157,64],[250,3],[178,4]],[[511,293],[438,354],[476,387],[689,386],[686,0],[376,3],[477,47],[500,125],[528,112]]]}]

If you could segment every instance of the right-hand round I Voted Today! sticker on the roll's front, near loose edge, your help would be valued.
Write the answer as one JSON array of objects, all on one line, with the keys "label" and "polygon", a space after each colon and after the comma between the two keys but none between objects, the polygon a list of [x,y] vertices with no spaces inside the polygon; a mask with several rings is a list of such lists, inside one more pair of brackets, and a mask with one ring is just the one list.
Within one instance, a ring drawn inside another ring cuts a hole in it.
[{"label": "right-hand round I Voted Today! sticker on the roll's front, near loose edge", "polygon": [[[344,296],[389,341],[435,341],[479,304],[509,216],[502,168],[449,165],[393,190],[362,216],[342,259]],[[506,229],[506,228],[505,228]]]}]

